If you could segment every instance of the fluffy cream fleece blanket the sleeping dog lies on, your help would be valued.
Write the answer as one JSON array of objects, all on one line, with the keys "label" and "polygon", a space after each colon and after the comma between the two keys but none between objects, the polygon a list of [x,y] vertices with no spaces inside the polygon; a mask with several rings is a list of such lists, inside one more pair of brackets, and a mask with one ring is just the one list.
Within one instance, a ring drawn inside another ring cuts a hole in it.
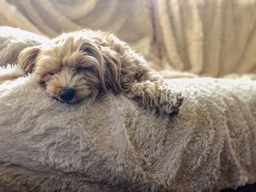
[{"label": "fluffy cream fleece blanket the sleeping dog lies on", "polygon": [[[1,40],[2,55],[28,41],[10,32]],[[4,58],[0,191],[219,191],[256,182],[255,81],[167,80],[184,104],[159,116],[121,94],[61,104]]]}]

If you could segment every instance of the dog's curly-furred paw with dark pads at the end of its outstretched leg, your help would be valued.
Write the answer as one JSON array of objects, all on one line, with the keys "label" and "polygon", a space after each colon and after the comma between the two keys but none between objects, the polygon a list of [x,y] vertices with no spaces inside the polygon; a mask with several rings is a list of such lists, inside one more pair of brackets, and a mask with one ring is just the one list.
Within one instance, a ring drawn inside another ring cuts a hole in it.
[{"label": "dog's curly-furred paw with dark pads at the end of its outstretched leg", "polygon": [[162,91],[159,98],[159,111],[168,115],[177,115],[184,97],[181,93],[173,93],[169,89]]}]

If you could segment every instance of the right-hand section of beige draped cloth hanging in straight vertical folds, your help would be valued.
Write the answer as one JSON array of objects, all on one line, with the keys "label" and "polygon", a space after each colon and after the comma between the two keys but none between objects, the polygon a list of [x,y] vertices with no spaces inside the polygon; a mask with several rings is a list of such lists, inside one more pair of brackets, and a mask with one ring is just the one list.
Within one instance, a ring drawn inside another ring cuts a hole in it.
[{"label": "right-hand section of beige draped cloth hanging in straight vertical folds", "polygon": [[256,1],[154,1],[162,66],[222,76],[256,71]]}]

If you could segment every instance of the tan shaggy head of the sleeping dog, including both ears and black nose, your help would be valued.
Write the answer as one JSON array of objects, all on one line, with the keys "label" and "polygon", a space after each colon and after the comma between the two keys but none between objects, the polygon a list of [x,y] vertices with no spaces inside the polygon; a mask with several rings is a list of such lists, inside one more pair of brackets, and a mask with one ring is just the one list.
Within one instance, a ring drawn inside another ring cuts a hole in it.
[{"label": "tan shaggy head of the sleeping dog, including both ears and black nose", "polygon": [[99,91],[121,91],[120,59],[113,44],[113,36],[100,31],[62,34],[23,50],[18,66],[38,74],[50,96],[73,104]]}]

